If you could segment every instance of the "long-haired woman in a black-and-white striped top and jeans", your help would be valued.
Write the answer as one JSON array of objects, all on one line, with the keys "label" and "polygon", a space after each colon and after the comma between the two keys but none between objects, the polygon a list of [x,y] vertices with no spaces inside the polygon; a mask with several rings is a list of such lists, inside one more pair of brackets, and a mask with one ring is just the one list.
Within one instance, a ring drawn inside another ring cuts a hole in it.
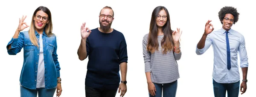
[{"label": "long-haired woman in a black-and-white striped top and jeans", "polygon": [[149,97],[175,97],[180,78],[177,60],[181,57],[180,35],[171,29],[170,15],[164,6],[154,8],[149,33],[143,37],[143,57]]}]

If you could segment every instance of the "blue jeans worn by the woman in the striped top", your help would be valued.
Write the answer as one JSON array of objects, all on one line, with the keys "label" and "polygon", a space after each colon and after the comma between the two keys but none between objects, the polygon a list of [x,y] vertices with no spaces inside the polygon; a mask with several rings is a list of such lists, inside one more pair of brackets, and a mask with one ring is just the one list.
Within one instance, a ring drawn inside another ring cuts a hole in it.
[{"label": "blue jeans worn by the woman in the striped top", "polygon": [[152,96],[149,94],[149,97],[162,97],[162,91],[163,91],[163,97],[175,97],[176,91],[177,91],[177,80],[172,83],[154,83],[154,86],[156,87],[155,96]]}]

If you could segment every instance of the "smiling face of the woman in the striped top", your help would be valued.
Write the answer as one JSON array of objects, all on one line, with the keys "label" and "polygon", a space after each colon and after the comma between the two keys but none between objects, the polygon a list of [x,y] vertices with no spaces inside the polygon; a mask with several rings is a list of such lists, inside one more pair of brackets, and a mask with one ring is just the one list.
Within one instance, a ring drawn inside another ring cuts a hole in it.
[{"label": "smiling face of the woman in the striped top", "polygon": [[159,14],[157,15],[156,23],[159,28],[162,28],[167,21],[167,14],[164,9],[162,9]]}]

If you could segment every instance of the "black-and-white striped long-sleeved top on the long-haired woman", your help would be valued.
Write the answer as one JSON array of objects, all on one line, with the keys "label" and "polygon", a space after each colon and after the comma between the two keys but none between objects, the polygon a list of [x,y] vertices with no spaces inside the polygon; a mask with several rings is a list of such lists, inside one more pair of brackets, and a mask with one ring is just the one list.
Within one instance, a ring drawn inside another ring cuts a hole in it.
[{"label": "black-and-white striped long-sleeved top on the long-haired woman", "polygon": [[173,51],[163,54],[161,51],[162,36],[158,36],[158,50],[153,54],[147,51],[148,34],[143,37],[143,57],[145,63],[145,72],[151,72],[151,81],[153,83],[172,83],[180,78],[178,64],[176,60],[180,60],[181,52]]}]

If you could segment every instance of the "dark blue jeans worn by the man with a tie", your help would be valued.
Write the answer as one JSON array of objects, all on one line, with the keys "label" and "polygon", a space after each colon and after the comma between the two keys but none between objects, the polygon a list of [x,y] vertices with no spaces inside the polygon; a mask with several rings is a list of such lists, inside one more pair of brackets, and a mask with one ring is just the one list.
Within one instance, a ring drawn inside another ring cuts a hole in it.
[{"label": "dark blue jeans worn by the man with a tie", "polygon": [[212,79],[215,97],[238,97],[240,80],[236,83],[217,83]]}]

